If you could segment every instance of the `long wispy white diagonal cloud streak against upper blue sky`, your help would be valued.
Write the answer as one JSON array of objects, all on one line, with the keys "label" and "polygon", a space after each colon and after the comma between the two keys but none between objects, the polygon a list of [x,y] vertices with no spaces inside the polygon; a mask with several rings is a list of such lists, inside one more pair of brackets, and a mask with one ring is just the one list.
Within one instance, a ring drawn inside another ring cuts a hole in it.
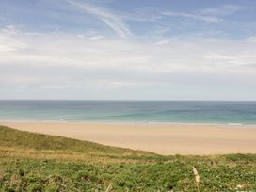
[{"label": "long wispy white diagonal cloud streak against upper blue sky", "polygon": [[78,3],[72,0],[67,0],[67,2],[76,8],[84,10],[88,14],[96,16],[101,21],[103,21],[104,24],[114,30],[121,38],[128,38],[132,35],[127,24],[121,21],[119,16],[112,13],[111,11],[87,3]]}]

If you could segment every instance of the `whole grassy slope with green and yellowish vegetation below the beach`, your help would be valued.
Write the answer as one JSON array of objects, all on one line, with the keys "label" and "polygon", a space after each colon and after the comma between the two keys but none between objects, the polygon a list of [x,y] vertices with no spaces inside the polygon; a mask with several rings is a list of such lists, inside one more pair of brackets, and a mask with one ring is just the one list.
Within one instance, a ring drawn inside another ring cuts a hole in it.
[{"label": "whole grassy slope with green and yellowish vegetation below the beach", "polygon": [[256,154],[160,156],[0,126],[0,191],[256,191]]}]

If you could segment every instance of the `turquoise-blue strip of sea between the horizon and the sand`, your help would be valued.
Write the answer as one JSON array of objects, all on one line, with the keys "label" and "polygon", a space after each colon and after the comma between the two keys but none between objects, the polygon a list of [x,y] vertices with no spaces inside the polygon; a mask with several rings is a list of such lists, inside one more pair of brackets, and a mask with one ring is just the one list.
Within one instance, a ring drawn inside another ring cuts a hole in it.
[{"label": "turquoise-blue strip of sea between the horizon and the sand", "polygon": [[256,102],[0,101],[0,121],[256,124]]}]

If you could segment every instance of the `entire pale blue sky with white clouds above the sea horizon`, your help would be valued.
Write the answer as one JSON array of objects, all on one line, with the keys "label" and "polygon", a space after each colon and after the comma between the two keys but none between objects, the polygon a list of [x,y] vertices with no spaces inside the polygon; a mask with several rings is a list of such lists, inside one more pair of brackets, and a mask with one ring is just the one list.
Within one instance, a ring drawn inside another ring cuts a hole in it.
[{"label": "entire pale blue sky with white clouds above the sea horizon", "polygon": [[1,0],[0,99],[256,100],[256,1]]}]

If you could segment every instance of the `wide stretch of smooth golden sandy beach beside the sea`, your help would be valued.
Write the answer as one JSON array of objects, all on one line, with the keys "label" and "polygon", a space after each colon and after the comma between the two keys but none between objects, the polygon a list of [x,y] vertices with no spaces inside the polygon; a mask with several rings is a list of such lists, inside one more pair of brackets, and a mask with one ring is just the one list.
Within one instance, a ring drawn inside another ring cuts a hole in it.
[{"label": "wide stretch of smooth golden sandy beach beside the sea", "polygon": [[256,153],[256,126],[52,122],[1,124],[24,131],[159,154]]}]

